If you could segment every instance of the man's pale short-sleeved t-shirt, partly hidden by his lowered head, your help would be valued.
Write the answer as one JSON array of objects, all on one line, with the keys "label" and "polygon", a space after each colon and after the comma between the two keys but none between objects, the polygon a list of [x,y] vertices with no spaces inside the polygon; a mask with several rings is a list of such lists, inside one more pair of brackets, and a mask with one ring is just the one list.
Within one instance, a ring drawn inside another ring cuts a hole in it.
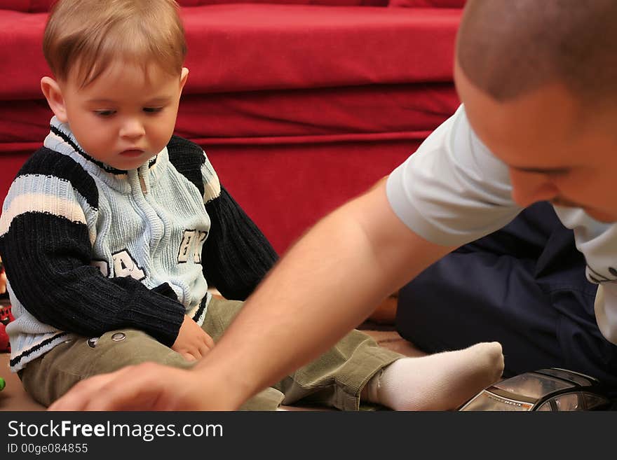
[{"label": "man's pale short-sleeved t-shirt, partly hidden by his lowered head", "polygon": [[[436,244],[460,246],[488,235],[522,210],[513,202],[508,167],[482,144],[461,105],[388,177],[395,214]],[[617,344],[617,225],[595,221],[580,208],[555,206],[574,230],[589,281],[599,284],[599,330]]]}]

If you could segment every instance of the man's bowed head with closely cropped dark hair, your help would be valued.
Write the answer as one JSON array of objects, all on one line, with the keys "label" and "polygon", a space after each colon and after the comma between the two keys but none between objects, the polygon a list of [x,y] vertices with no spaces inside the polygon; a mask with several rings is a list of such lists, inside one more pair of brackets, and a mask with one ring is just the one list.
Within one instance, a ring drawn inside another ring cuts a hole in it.
[{"label": "man's bowed head with closely cropped dark hair", "polygon": [[617,2],[469,0],[456,88],[513,197],[617,221]]}]

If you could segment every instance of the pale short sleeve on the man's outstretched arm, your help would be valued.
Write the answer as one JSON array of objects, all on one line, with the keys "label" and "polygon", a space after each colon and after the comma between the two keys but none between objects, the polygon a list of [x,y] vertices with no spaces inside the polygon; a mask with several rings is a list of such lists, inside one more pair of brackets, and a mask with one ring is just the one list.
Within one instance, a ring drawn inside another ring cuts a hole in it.
[{"label": "pale short sleeve on the man's outstretched arm", "polygon": [[508,167],[471,129],[463,106],[388,177],[388,202],[424,239],[459,246],[510,222],[521,207]]}]

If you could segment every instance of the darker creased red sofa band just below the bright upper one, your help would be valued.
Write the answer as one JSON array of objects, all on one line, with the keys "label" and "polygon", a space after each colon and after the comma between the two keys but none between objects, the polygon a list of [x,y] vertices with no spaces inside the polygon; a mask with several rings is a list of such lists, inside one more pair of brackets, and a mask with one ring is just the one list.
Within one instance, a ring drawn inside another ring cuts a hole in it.
[{"label": "darker creased red sofa band just below the bright upper one", "polygon": [[[458,105],[451,84],[184,95],[176,132],[205,144],[419,139]],[[44,99],[0,102],[0,153],[40,146],[51,116]]]}]

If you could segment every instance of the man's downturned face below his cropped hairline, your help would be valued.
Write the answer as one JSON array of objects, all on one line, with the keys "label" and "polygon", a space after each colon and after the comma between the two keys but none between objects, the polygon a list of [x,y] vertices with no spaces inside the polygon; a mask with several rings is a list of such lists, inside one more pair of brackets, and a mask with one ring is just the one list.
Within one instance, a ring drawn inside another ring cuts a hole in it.
[{"label": "man's downturned face below his cropped hairline", "polygon": [[617,221],[617,130],[609,113],[582,111],[560,85],[498,102],[458,63],[454,79],[473,130],[508,165],[517,204],[548,200]]}]

